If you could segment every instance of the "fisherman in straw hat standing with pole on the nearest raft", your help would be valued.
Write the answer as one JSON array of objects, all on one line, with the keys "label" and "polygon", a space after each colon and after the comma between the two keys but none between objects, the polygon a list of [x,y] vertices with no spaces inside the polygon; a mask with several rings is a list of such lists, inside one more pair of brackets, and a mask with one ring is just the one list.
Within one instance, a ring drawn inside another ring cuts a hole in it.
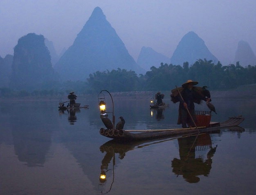
[{"label": "fisherman in straw hat standing with pole on the nearest raft", "polygon": [[[201,96],[199,93],[197,93],[193,86],[197,85],[197,81],[188,80],[184,84],[182,84],[183,90],[181,91],[181,96],[178,96],[178,100],[180,102],[179,105],[179,117],[177,124],[182,124],[182,128],[187,128],[186,124],[189,125],[189,127],[195,127],[195,124],[197,122],[195,117],[195,104],[200,103],[201,100],[210,101],[211,98],[205,98]],[[182,99],[183,98],[183,99]],[[193,120],[191,119],[189,113]]]}]

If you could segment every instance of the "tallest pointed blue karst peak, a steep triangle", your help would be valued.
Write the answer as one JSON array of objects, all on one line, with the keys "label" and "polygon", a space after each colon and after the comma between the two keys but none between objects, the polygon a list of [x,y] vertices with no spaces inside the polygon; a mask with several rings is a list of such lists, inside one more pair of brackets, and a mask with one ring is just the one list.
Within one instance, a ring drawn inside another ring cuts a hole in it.
[{"label": "tallest pointed blue karst peak, a steep triangle", "polygon": [[96,7],[54,69],[62,80],[86,80],[90,73],[118,68],[144,73],[106,20],[101,8]]}]

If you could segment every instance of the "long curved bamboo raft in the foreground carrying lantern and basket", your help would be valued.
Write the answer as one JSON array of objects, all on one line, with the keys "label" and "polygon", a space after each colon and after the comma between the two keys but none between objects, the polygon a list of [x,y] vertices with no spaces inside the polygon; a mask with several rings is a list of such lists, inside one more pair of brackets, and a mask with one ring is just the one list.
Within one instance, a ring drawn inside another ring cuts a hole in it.
[{"label": "long curved bamboo raft in the foreground carrying lantern and basket", "polygon": [[101,128],[99,133],[105,137],[115,140],[132,141],[132,140],[149,140],[162,137],[175,137],[180,135],[194,135],[198,133],[207,133],[222,128],[238,126],[245,120],[242,116],[229,117],[224,122],[210,122],[209,126],[198,126],[186,129],[153,129],[153,130],[124,130],[124,129],[104,129]]}]

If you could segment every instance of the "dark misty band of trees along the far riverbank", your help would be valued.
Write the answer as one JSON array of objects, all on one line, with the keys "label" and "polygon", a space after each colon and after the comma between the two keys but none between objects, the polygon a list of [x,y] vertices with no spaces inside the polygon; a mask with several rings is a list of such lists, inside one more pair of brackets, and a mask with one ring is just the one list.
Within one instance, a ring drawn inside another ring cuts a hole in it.
[{"label": "dark misty band of trees along the far riverbank", "polygon": [[181,86],[186,80],[199,82],[198,86],[210,86],[211,90],[228,90],[240,85],[256,83],[256,66],[240,66],[229,64],[222,66],[212,60],[197,60],[189,67],[188,62],[180,65],[163,64],[158,68],[152,66],[145,75],[139,76],[134,71],[117,69],[97,71],[89,75],[86,81],[45,81],[33,89],[14,91],[11,88],[0,88],[0,97],[56,96],[67,95],[74,91],[77,95],[97,93],[103,89],[111,92],[121,91],[168,91]]}]

